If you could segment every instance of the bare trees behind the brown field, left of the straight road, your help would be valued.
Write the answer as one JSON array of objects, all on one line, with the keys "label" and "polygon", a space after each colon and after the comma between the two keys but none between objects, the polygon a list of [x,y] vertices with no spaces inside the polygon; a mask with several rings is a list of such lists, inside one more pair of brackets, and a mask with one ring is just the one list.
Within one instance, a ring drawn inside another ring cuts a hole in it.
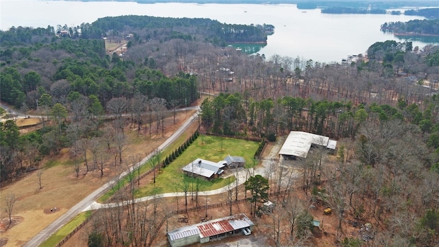
[{"label": "bare trees behind the brown field, left of the straight road", "polygon": [[[144,95],[134,95],[132,99],[115,97],[106,104],[110,116],[104,116],[104,108],[95,95],[88,98],[79,93],[71,95],[67,104],[52,104],[47,93],[38,99],[38,113],[43,128],[29,134],[19,134],[19,128],[13,120],[1,123],[1,162],[2,180],[19,176],[38,165],[42,156],[58,154],[62,148],[71,149],[71,158],[75,161],[75,172],[79,174],[80,164],[86,166],[86,172],[99,169],[103,176],[104,165],[110,156],[114,156],[115,165],[122,163],[122,154],[126,150],[127,140],[124,128],[129,122],[124,114],[130,116],[131,126],[149,134],[163,132],[164,119],[167,116],[165,99]],[[175,112],[174,112],[175,113]],[[101,128],[102,119],[112,119],[111,127]],[[50,120],[54,125],[47,125]],[[154,122],[156,123],[154,125]],[[89,166],[87,154],[93,155],[93,164]]]}]

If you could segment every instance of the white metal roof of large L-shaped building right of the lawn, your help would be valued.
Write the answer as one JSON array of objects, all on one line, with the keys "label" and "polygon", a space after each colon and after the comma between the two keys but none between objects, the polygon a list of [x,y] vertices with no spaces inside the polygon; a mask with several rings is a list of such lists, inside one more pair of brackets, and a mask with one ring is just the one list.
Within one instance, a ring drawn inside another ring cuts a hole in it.
[{"label": "white metal roof of large L-shaped building right of the lawn", "polygon": [[292,131],[289,132],[285,143],[283,143],[282,148],[279,151],[279,154],[307,158],[311,145],[314,144],[326,147],[328,142],[329,137],[302,131]]}]

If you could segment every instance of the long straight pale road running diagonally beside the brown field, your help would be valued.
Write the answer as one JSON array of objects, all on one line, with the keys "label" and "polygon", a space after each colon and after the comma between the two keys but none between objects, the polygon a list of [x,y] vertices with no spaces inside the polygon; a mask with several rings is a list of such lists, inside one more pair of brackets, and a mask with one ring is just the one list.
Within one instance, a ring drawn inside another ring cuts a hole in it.
[{"label": "long straight pale road running diagonally beside the brown field", "polygon": [[[187,130],[187,128],[193,123],[193,121],[195,121],[195,119],[198,119],[198,111],[195,114],[193,114],[191,117],[189,117],[189,119],[187,119],[187,121],[185,121],[185,123],[182,124],[182,126],[180,126],[180,128],[178,128],[178,130],[176,130],[176,132],[174,132],[174,134],[172,134],[171,137],[169,137],[165,142],[163,142],[162,145],[158,147],[158,150],[163,150],[167,148],[169,145],[171,145],[171,143],[176,141],[176,139],[178,139],[178,137],[180,137],[180,135],[183,132],[185,132],[185,130]],[[140,165],[142,165],[143,163],[146,163],[151,158],[151,156],[152,154],[149,154],[148,156],[143,158],[141,162],[137,163],[136,165],[133,165],[131,169],[134,170]],[[121,179],[127,174],[128,172],[122,172],[119,175],[119,178]],[[73,217],[78,215],[78,213],[84,211],[85,209],[88,209],[90,205],[93,204],[95,200],[97,200],[97,198],[102,196],[114,184],[115,184],[115,180],[111,180],[108,183],[102,185],[102,187],[99,187],[99,189],[93,191],[93,193],[91,193],[86,198],[75,204],[75,206],[71,207],[69,211],[61,215],[57,220],[52,222],[52,224],[47,226],[43,231],[40,231],[40,233],[38,233],[35,237],[30,239],[29,242],[27,242],[24,246],[25,247],[40,246],[40,244],[42,244],[45,241],[45,239],[47,239],[56,231],[58,231],[58,229],[61,228],[61,226],[67,224],[67,222],[69,222],[71,219],[73,219]]]}]

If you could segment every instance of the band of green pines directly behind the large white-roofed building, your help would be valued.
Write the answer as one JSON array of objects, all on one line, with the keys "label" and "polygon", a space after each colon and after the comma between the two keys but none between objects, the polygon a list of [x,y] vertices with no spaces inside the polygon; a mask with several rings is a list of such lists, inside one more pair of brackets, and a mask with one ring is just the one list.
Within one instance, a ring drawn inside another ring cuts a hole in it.
[{"label": "band of green pines directly behind the large white-roofed building", "polygon": [[[314,101],[285,96],[273,99],[244,100],[239,93],[220,93],[215,99],[205,99],[201,106],[202,126],[215,134],[242,135],[250,130],[263,136],[281,135],[289,130],[305,130],[332,138],[355,137],[366,119],[388,121],[401,119],[418,124],[421,130],[436,130],[438,119],[436,95],[423,113],[417,104],[408,105],[399,99],[398,107],[388,104],[354,106],[352,102]],[[436,126],[436,127],[434,127]],[[433,132],[434,132],[433,131]]]}]

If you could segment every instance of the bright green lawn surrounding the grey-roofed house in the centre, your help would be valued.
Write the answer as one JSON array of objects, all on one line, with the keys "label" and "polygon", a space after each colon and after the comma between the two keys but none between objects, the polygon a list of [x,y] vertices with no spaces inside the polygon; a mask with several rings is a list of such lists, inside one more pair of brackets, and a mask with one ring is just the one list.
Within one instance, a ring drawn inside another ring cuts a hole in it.
[{"label": "bright green lawn surrounding the grey-roofed house in the centre", "polygon": [[[182,180],[181,168],[191,163],[195,158],[217,162],[224,160],[224,157],[230,154],[231,156],[243,156],[246,159],[247,165],[253,165],[253,155],[258,145],[259,143],[254,141],[200,135],[175,161],[156,174],[155,185],[150,183],[138,189],[136,197],[150,196],[154,193],[181,191],[176,186]],[[166,156],[163,156],[163,158],[166,158]],[[224,187],[228,183],[232,183],[234,179],[217,178],[211,181],[199,179],[199,181],[200,185],[202,185],[200,190],[207,191]]]}]

